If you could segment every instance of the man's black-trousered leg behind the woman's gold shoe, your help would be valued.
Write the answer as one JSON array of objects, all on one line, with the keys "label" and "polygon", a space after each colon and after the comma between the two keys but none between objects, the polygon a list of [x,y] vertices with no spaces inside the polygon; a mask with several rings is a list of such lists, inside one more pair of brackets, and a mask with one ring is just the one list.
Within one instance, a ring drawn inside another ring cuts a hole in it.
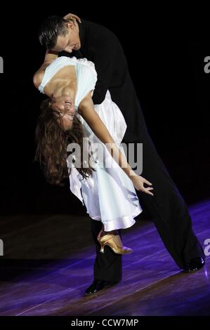
[{"label": "man's black-trousered leg behind the woman's gold shoe", "polygon": [[101,229],[102,223],[91,219],[91,232],[96,244],[94,279],[119,282],[122,279],[122,256],[114,253],[109,246],[105,246],[105,253],[100,252],[100,243],[97,240],[97,236]]}]

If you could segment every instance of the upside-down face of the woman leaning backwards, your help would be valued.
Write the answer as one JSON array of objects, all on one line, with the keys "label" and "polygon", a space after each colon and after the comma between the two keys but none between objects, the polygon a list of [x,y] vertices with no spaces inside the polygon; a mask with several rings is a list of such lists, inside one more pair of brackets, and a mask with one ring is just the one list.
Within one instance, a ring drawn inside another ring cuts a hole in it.
[{"label": "upside-down face of the woman leaning backwards", "polygon": [[53,100],[51,103],[51,109],[55,119],[63,129],[63,131],[70,131],[73,125],[73,119],[75,114],[74,102],[70,96],[60,96]]}]

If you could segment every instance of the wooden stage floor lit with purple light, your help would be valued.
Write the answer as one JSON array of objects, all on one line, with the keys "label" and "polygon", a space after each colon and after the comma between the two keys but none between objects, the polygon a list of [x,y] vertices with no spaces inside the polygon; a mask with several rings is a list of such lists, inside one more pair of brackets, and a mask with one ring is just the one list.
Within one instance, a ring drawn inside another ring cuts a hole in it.
[{"label": "wooden stage floor lit with purple light", "polygon": [[[190,206],[190,214],[205,248],[210,201]],[[122,282],[84,297],[95,258],[87,216],[1,220],[0,315],[210,315],[210,258],[202,270],[185,274],[151,221],[123,230],[124,245],[133,253],[123,256]]]}]

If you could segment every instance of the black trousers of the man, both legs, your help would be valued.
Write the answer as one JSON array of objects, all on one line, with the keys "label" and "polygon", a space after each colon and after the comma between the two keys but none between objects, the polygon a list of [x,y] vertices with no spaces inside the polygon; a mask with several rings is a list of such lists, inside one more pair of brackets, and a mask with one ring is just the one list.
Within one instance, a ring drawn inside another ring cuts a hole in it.
[{"label": "black trousers of the man, both legs", "polygon": [[[139,199],[150,213],[157,227],[164,246],[171,254],[179,268],[184,268],[192,258],[202,256],[204,252],[195,233],[188,207],[183,197],[169,176],[162,159],[157,154],[147,131],[142,132],[142,138],[135,143],[143,143],[143,173],[154,187],[154,196],[136,191]],[[137,149],[136,149],[137,150]],[[102,223],[91,220],[91,230],[96,244],[96,260],[94,263],[94,278],[107,281],[122,279],[122,256],[105,246],[105,253],[100,253],[97,241]]]}]

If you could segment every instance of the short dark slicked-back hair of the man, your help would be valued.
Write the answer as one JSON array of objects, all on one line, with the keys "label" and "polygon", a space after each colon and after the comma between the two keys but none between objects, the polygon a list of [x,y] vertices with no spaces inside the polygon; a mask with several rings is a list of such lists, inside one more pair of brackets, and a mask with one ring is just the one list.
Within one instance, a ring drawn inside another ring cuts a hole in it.
[{"label": "short dark slicked-back hair of the man", "polygon": [[42,22],[39,28],[39,42],[47,49],[55,47],[58,36],[67,34],[67,27],[65,23],[68,20],[60,16],[49,16]]}]

